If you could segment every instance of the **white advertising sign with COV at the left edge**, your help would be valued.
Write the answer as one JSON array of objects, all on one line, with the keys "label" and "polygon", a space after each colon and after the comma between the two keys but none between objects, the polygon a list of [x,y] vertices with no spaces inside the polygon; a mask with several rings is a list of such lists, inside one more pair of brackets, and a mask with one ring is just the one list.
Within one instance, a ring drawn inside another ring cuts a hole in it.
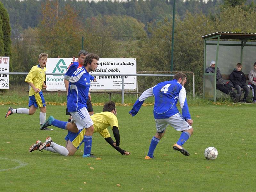
[{"label": "white advertising sign with COV at the left edge", "polygon": [[[9,73],[10,57],[0,57],[0,72]],[[0,89],[9,89],[9,75],[0,74]]]}]

